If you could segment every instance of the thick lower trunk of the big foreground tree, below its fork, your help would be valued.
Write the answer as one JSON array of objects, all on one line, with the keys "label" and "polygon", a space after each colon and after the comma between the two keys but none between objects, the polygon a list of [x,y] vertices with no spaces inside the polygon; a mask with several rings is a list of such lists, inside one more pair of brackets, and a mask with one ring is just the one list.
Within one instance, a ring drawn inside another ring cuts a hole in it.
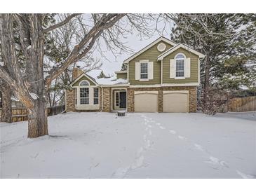
[{"label": "thick lower trunk of the big foreground tree, below its fork", "polygon": [[46,103],[42,100],[35,101],[35,107],[27,110],[29,138],[48,135],[48,122]]}]

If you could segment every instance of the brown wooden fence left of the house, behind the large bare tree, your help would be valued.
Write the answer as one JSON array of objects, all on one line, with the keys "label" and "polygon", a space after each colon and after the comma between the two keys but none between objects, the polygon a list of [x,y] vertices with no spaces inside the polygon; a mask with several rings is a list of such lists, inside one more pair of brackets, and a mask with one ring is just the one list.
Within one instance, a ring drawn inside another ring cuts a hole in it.
[{"label": "brown wooden fence left of the house, behind the large bare tree", "polygon": [[[1,109],[0,109],[0,111],[1,111]],[[58,115],[58,114],[62,113],[62,111],[65,111],[64,104],[47,108],[48,116]],[[13,122],[27,121],[27,109],[26,108],[13,108],[12,113],[13,113],[13,116],[12,116]]]}]

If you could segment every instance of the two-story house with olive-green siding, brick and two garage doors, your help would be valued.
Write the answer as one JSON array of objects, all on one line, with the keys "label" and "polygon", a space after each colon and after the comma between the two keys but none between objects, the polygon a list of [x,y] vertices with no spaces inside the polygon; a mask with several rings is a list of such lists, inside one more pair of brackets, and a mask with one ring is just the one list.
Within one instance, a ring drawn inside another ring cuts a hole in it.
[{"label": "two-story house with olive-green siding, brick and two garage doors", "polygon": [[117,79],[95,80],[73,71],[67,111],[196,112],[196,88],[204,55],[165,37],[123,62]]}]

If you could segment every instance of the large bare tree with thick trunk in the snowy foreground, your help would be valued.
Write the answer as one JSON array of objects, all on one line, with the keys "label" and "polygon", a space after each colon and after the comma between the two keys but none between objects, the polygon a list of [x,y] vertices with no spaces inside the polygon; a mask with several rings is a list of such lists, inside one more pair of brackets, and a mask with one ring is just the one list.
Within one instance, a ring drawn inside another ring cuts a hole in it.
[{"label": "large bare tree with thick trunk in the snowy foreground", "polygon": [[[25,104],[28,111],[28,137],[48,135],[46,114],[46,92],[50,83],[62,74],[70,64],[78,62],[93,47],[97,38],[105,29],[112,27],[125,14],[99,14],[81,41],[74,46],[67,59],[53,67],[49,75],[43,76],[43,57],[46,33],[67,24],[76,15],[70,15],[64,21],[43,27],[46,14],[1,14],[0,33],[3,60],[6,67],[0,67],[1,78],[13,89],[19,100]],[[18,23],[20,29],[20,48],[25,56],[26,76],[18,64],[13,36],[13,24]]]}]

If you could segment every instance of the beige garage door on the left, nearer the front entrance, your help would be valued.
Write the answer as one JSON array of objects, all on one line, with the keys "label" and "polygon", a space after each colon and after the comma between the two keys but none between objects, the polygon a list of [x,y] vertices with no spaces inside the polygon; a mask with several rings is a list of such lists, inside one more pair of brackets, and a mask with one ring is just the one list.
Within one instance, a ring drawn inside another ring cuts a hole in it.
[{"label": "beige garage door on the left, nearer the front entrance", "polygon": [[135,91],[134,92],[135,112],[158,112],[159,92],[158,91]]}]

